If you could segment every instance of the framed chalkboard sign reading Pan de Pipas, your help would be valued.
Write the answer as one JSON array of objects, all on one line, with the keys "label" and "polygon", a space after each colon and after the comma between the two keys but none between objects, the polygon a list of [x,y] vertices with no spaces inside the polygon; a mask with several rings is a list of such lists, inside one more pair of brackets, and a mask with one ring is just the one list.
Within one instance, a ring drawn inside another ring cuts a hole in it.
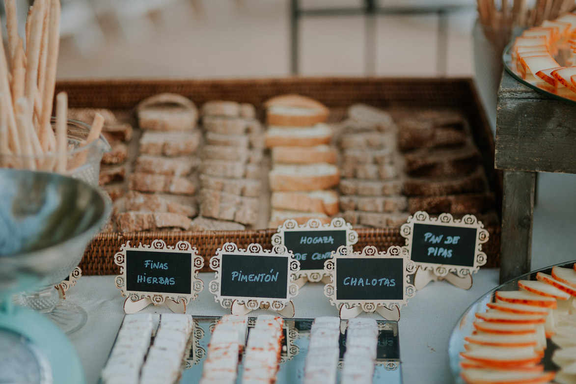
[{"label": "framed chalkboard sign reading Pan de Pipas", "polygon": [[404,248],[419,267],[439,275],[450,271],[466,275],[486,264],[482,244],[488,241],[488,231],[483,227],[473,215],[462,219],[450,214],[430,218],[420,211],[401,226],[400,234],[406,238]]}]

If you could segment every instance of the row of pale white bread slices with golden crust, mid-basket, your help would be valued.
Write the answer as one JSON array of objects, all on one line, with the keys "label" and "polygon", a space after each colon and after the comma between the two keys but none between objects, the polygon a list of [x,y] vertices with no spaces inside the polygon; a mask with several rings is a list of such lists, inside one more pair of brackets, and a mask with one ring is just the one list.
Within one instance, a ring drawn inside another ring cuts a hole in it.
[{"label": "row of pale white bread slices with golden crust, mid-basket", "polygon": [[334,132],[324,121],[328,108],[312,98],[286,94],[268,100],[266,146],[271,150],[269,227],[287,219],[329,223],[338,213],[340,171]]}]

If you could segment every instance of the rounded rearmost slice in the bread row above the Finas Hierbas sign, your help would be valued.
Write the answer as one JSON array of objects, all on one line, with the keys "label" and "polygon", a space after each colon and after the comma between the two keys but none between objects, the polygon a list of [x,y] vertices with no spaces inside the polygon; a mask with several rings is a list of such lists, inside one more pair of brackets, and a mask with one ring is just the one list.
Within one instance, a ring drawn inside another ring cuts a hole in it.
[{"label": "rounded rearmost slice in the bread row above the Finas Hierbas sign", "polygon": [[191,131],[198,121],[194,102],[175,93],[160,93],[142,100],[136,113],[143,130]]}]

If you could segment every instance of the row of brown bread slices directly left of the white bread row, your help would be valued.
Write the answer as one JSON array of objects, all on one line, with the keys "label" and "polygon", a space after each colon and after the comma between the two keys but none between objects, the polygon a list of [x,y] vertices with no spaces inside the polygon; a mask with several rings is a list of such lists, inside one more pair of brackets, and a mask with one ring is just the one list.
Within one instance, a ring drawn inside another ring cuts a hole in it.
[{"label": "row of brown bread slices directly left of the white bread row", "polygon": [[[262,182],[262,124],[252,104],[208,101],[202,106],[206,145],[202,149],[200,216],[202,226],[244,229],[255,225]],[[238,223],[241,226],[233,225]],[[230,226],[232,225],[232,226]]]}]

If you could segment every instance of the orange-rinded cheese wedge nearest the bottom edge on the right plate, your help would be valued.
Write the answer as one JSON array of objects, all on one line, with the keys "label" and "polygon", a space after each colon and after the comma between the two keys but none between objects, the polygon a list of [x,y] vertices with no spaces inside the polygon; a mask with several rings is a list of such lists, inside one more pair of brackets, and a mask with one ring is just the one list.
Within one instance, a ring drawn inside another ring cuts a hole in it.
[{"label": "orange-rinded cheese wedge nearest the bottom edge on the right plate", "polygon": [[540,384],[553,380],[555,373],[470,368],[462,370],[460,376],[467,384]]}]

